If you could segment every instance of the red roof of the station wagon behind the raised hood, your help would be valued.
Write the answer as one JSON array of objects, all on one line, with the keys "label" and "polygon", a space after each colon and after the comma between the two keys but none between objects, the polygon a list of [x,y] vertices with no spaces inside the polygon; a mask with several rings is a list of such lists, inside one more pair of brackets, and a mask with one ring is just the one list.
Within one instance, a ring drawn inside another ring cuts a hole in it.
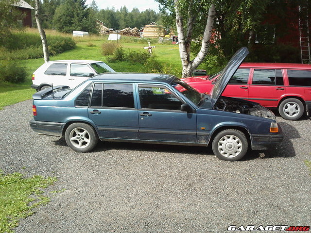
[{"label": "red roof of the station wagon behind the raised hood", "polygon": [[244,62],[240,68],[311,69],[310,64]]}]

